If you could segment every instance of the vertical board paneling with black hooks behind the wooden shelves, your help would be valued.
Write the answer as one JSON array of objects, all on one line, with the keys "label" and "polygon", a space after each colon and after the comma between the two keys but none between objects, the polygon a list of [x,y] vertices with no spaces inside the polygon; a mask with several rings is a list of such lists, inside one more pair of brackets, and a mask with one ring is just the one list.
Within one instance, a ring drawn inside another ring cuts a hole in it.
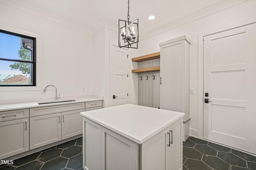
[{"label": "vertical board paneling with black hooks behind the wooden shelves", "polygon": [[[160,59],[142,61],[138,68],[160,66]],[[141,79],[141,80],[140,80]],[[138,105],[160,107],[160,72],[138,73]]]}]

